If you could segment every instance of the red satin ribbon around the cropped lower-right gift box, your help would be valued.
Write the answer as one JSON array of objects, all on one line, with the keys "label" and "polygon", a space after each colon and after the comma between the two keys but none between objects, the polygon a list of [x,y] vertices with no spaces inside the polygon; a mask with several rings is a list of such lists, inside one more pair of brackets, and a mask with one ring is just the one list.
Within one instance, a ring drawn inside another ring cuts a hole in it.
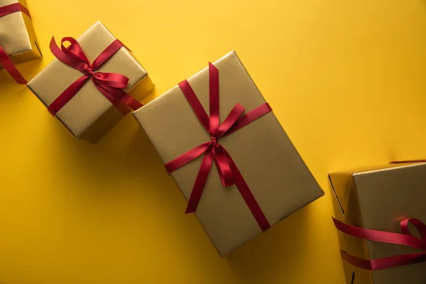
[{"label": "red satin ribbon around the cropped lower-right gift box", "polygon": [[[351,256],[345,251],[341,251],[342,258],[353,266],[363,268],[369,271],[377,271],[380,269],[393,268],[397,266],[407,266],[409,264],[421,263],[426,261],[426,225],[418,219],[405,219],[400,222],[402,234],[391,233],[388,231],[376,231],[371,229],[362,229],[356,226],[350,226],[343,222],[334,219],[334,225],[339,231],[349,236],[355,236],[359,239],[368,241],[378,241],[381,243],[396,244],[401,246],[410,246],[415,249],[420,249],[422,253],[410,253],[401,256],[389,256],[386,258],[377,258],[367,260]],[[420,234],[420,238],[413,236],[408,224],[412,224]]]}]

